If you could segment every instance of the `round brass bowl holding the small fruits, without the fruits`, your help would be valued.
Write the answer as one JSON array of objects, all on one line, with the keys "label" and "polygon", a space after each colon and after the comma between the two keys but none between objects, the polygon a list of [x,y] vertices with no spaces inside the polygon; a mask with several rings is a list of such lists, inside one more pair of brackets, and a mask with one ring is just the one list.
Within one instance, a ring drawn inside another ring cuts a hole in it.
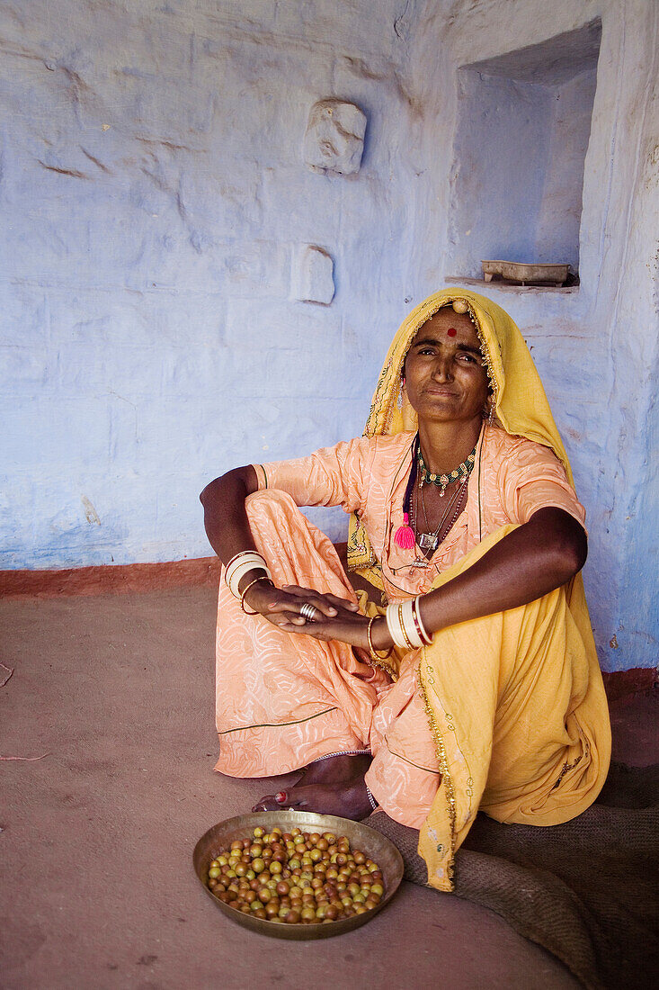
[{"label": "round brass bowl holding the small fruits, without the fruits", "polygon": [[[230,908],[228,904],[219,901],[207,887],[209,866],[221,845],[228,845],[236,839],[250,838],[257,825],[262,826],[267,832],[279,826],[284,832],[290,832],[297,827],[305,832],[333,832],[336,836],[345,836],[349,839],[351,848],[361,849],[382,870],[384,887],[382,900],[376,908],[364,912],[363,915],[353,915],[352,918],[341,918],[335,922],[313,925],[281,925],[264,918],[243,915],[235,908]],[[192,862],[204,890],[228,918],[238,925],[251,929],[252,932],[273,936],[275,939],[329,939],[333,935],[351,932],[352,929],[370,922],[378,911],[389,904],[403,879],[401,853],[393,842],[385,839],[379,832],[369,829],[361,822],[350,822],[335,815],[316,815],[305,811],[266,811],[252,815],[238,815],[236,818],[227,819],[226,822],[220,822],[209,829],[197,842],[192,853]]]}]

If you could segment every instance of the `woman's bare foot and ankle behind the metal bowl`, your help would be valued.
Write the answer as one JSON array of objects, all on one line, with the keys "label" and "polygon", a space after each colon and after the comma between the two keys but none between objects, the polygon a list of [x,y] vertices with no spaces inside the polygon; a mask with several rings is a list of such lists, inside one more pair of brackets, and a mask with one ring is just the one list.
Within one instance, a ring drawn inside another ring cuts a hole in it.
[{"label": "woman's bare foot and ankle behind the metal bowl", "polygon": [[286,791],[267,794],[251,810],[293,808],[360,822],[373,811],[364,781],[371,758],[365,753],[359,756],[331,756],[310,763],[305,768],[303,779],[297,784]]}]

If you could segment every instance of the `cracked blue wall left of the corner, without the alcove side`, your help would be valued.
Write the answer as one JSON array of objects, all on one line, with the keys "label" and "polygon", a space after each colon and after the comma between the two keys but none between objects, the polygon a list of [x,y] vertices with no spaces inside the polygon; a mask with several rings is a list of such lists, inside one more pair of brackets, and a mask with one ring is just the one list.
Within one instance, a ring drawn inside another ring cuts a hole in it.
[{"label": "cracked blue wall left of the corner, without the alcove side", "polygon": [[[406,309],[409,6],[3,4],[0,566],[206,555],[212,477],[361,433]],[[334,96],[355,175],[304,164]],[[309,244],[331,305],[293,298]]]}]

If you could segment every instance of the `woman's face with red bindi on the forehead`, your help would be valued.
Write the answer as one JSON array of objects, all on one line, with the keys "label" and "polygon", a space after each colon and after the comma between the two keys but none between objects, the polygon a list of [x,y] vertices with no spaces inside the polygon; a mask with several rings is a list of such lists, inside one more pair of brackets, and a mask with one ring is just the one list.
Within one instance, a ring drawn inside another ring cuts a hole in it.
[{"label": "woman's face with red bindi on the forehead", "polygon": [[424,323],[405,360],[405,386],[422,420],[470,421],[482,415],[488,373],[467,314],[447,306]]}]

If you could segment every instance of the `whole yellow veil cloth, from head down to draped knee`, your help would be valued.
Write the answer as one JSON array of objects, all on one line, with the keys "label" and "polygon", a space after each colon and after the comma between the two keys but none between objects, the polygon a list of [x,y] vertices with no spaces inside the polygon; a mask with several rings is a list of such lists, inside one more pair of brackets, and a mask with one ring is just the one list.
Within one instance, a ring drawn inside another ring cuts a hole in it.
[{"label": "whole yellow veil cloth, from head down to draped knee", "polygon": [[[518,327],[496,303],[464,289],[429,296],[404,321],[380,374],[365,436],[417,429],[405,397],[399,408],[405,357],[424,322],[457,299],[467,303],[481,341],[497,422],[509,434],[550,447],[573,483]],[[433,588],[513,529],[488,536]],[[378,561],[356,516],[347,553],[350,569],[381,589]],[[609,769],[611,728],[581,574],[529,605],[442,630],[421,652],[419,682],[441,771],[419,841],[431,886],[453,889],[454,853],[479,808],[501,822],[557,825],[598,796]]]}]

